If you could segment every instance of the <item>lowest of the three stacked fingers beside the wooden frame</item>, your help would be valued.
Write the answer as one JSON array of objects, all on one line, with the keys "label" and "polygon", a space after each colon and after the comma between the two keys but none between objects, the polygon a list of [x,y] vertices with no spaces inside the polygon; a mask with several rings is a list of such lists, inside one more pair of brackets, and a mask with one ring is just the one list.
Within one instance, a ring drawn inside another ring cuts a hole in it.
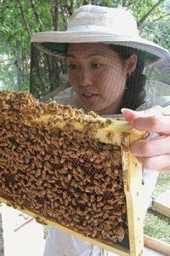
[{"label": "lowest of the three stacked fingers beside the wooden frame", "polygon": [[170,154],[161,154],[153,157],[137,157],[145,170],[170,172]]}]

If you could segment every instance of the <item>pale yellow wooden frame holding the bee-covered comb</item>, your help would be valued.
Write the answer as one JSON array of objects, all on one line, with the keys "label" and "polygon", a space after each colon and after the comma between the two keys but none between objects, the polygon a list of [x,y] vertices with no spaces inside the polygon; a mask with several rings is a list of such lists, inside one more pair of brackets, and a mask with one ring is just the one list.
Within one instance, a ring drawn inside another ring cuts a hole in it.
[{"label": "pale yellow wooden frame holding the bee-covered comb", "polygon": [[[2,107],[3,104],[3,107]],[[6,104],[6,103],[5,103]],[[8,107],[0,102],[0,108],[8,109]],[[4,107],[5,106],[5,107]],[[26,106],[29,108],[29,106]],[[49,119],[51,118],[50,114],[42,114],[33,119],[34,124],[48,124]],[[86,119],[89,119],[91,123],[96,117],[94,116],[86,116]],[[142,255],[144,250],[144,238],[143,238],[143,203],[142,203],[142,166],[139,164],[138,160],[136,160],[133,155],[130,153],[129,145],[130,143],[143,139],[145,137],[145,133],[141,131],[135,131],[127,121],[122,120],[111,120],[100,118],[97,119],[107,125],[103,125],[95,131],[94,137],[98,139],[101,143],[109,143],[116,144],[121,147],[122,151],[122,177],[123,177],[123,185],[124,185],[124,193],[126,195],[127,202],[127,225],[128,225],[128,237],[129,237],[129,249],[125,247],[116,245],[113,243],[112,245],[105,244],[101,241],[94,240],[89,238],[88,236],[82,236],[71,229],[66,228],[63,225],[56,224],[55,222],[49,220],[48,218],[44,218],[44,216],[40,214],[36,214],[33,210],[26,209],[20,206],[16,206],[13,204],[13,201],[8,201],[4,195],[0,195],[0,201],[3,201],[7,205],[16,207],[22,212],[26,212],[26,214],[31,215],[32,217],[37,218],[39,222],[42,224],[48,224],[54,226],[60,230],[64,230],[73,236],[77,236],[83,241],[88,241],[94,245],[98,245],[99,247],[103,247],[113,253],[118,255]],[[3,121],[3,116],[0,115],[0,121]],[[24,120],[26,125],[31,125],[32,120],[26,119]],[[59,129],[64,129],[66,124],[66,120],[58,120],[56,125]],[[74,128],[77,131],[81,131],[83,128],[82,122],[75,121],[72,123]]]}]

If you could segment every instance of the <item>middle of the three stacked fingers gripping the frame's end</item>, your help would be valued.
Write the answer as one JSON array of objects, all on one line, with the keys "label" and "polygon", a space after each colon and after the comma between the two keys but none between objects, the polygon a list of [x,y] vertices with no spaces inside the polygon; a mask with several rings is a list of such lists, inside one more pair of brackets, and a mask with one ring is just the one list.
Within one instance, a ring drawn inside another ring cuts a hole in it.
[{"label": "middle of the three stacked fingers gripping the frame's end", "polygon": [[170,137],[151,137],[145,141],[131,143],[130,150],[135,156],[151,157],[170,153]]}]

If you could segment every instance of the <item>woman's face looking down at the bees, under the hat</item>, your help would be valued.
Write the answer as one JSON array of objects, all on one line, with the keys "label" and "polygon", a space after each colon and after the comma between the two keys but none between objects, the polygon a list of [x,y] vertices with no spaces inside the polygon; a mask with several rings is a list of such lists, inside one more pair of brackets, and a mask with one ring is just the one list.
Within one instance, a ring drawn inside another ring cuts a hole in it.
[{"label": "woman's face looking down at the bees, under the hat", "polygon": [[107,44],[70,44],[67,54],[69,82],[82,107],[116,113],[126,87],[127,61]]}]

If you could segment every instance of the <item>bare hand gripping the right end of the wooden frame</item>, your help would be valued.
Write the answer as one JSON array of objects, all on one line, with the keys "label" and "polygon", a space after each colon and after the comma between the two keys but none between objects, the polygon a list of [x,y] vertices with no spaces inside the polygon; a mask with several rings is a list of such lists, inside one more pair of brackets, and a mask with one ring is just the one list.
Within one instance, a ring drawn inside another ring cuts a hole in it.
[{"label": "bare hand gripping the right end of the wooden frame", "polygon": [[156,106],[144,111],[122,108],[122,113],[133,128],[155,132],[156,137],[148,137],[130,145],[130,150],[147,170],[170,172],[170,113]]}]

